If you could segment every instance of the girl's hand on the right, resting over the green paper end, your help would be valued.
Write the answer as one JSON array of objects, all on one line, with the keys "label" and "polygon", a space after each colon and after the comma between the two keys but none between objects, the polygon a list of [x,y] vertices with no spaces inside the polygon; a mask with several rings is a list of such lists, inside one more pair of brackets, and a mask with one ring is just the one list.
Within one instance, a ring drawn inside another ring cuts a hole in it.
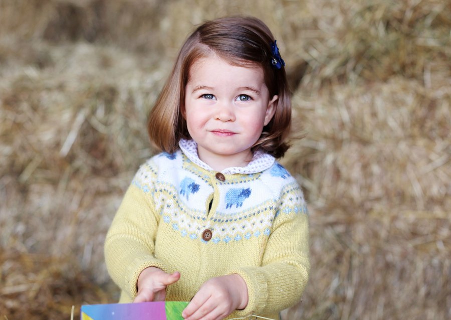
[{"label": "girl's hand on the right, resting over the green paper end", "polygon": [[248,305],[248,286],[238,274],[205,281],[182,312],[185,320],[219,320]]}]

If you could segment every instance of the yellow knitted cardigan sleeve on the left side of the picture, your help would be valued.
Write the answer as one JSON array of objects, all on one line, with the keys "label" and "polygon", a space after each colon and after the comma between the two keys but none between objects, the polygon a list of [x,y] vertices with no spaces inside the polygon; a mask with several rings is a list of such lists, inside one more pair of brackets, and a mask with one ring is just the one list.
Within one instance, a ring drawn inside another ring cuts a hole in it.
[{"label": "yellow knitted cardigan sleeve on the left side of the picture", "polygon": [[158,222],[151,197],[132,183],[108,230],[104,246],[108,273],[131,299],[136,297],[136,283],[142,270],[154,266],[167,272],[166,266],[154,256]]}]

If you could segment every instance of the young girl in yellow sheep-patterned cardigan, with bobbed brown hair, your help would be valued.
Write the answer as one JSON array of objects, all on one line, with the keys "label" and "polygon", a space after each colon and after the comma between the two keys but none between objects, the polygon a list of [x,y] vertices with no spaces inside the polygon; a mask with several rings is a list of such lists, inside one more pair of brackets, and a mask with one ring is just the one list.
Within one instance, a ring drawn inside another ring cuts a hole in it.
[{"label": "young girl in yellow sheep-patterned cardigan, with bobbed brown hair", "polygon": [[279,318],[309,277],[299,185],[275,161],[291,121],[276,41],[258,19],[217,19],[180,50],[141,166],[105,241],[120,302],[190,301],[187,320]]}]

